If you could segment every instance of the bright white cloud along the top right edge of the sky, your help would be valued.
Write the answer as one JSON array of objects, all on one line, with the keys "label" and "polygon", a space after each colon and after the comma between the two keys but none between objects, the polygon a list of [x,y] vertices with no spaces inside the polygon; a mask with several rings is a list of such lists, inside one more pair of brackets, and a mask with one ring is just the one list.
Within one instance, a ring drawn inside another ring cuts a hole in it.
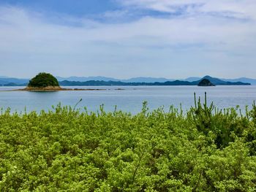
[{"label": "bright white cloud along the top right edge of the sky", "polygon": [[187,14],[216,13],[235,18],[256,19],[255,0],[116,0],[124,6],[152,9],[159,12]]}]

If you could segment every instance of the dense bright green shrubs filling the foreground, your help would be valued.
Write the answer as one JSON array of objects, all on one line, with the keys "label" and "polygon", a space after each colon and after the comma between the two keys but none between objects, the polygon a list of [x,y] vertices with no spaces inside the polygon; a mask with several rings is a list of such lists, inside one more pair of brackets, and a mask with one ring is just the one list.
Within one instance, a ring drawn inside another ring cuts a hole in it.
[{"label": "dense bright green shrubs filling the foreground", "polygon": [[0,115],[0,191],[255,191],[256,106]]}]

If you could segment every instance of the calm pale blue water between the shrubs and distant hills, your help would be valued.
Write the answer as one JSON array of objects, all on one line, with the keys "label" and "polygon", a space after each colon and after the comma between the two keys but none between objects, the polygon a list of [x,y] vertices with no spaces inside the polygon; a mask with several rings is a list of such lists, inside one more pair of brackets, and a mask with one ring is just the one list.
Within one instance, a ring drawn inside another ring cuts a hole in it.
[{"label": "calm pale blue water between the shrubs and distant hills", "polygon": [[[17,87],[0,87],[0,90],[11,90]],[[20,88],[20,87],[19,87]],[[74,88],[74,87],[73,87]],[[0,107],[10,107],[12,111],[50,110],[52,106],[70,105],[72,107],[79,101],[78,108],[87,107],[89,111],[99,110],[99,105],[104,104],[106,111],[118,110],[127,112],[140,112],[143,101],[148,101],[148,107],[154,110],[164,106],[166,110],[170,105],[183,110],[194,105],[194,92],[197,96],[204,96],[207,92],[208,101],[214,101],[219,108],[236,107],[242,109],[246,105],[251,106],[256,100],[256,86],[125,86],[125,87],[79,87],[79,88],[106,88],[106,91],[59,91],[59,92],[0,92]],[[124,90],[116,90],[124,88]]]}]

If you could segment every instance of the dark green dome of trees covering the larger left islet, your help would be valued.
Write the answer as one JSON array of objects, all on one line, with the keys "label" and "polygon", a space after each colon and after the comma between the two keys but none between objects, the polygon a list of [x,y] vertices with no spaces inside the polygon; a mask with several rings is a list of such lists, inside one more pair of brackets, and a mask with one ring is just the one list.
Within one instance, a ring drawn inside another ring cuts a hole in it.
[{"label": "dark green dome of trees covering the larger left islet", "polygon": [[46,88],[48,86],[59,87],[59,82],[52,74],[42,72],[32,78],[28,86],[32,88]]}]

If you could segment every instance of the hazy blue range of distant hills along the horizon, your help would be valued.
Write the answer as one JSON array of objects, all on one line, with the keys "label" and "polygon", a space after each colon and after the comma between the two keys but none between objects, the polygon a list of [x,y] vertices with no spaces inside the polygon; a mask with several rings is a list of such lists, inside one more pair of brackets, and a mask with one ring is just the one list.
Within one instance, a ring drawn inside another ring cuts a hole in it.
[{"label": "hazy blue range of distant hills along the horizon", "polygon": [[[214,85],[256,85],[256,80],[241,77],[238,79],[219,79],[216,77],[206,76],[200,77],[188,77],[185,80],[172,80],[158,77],[133,77],[127,80],[119,80],[111,77],[56,77],[62,85],[197,85],[200,80],[206,78],[210,80]],[[247,84],[244,82],[248,82]],[[29,83],[29,79],[18,79],[13,77],[0,76],[0,85],[12,85],[12,86],[26,86]],[[128,84],[127,84],[128,83]]]}]

